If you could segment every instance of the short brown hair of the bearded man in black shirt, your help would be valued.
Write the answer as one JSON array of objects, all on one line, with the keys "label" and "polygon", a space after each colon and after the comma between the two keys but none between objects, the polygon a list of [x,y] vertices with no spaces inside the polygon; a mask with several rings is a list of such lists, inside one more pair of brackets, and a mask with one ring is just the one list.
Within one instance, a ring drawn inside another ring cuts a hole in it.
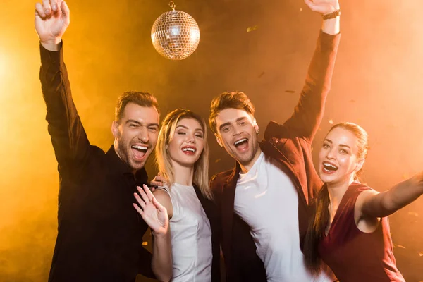
[{"label": "short brown hair of the bearded man in black shirt", "polygon": [[123,92],[118,98],[115,108],[115,121],[121,121],[123,111],[125,111],[125,106],[128,103],[134,103],[139,106],[154,106],[157,113],[159,112],[159,104],[157,103],[156,97],[149,92],[137,92],[137,91],[127,91]]}]

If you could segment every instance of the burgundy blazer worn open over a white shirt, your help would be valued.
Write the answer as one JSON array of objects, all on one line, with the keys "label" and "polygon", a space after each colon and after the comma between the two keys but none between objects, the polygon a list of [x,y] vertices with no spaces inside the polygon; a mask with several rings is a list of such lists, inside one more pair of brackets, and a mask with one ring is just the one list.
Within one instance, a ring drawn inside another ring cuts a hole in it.
[{"label": "burgundy blazer worn open over a white shirt", "polygon": [[[320,32],[305,86],[293,115],[283,124],[271,121],[266,127],[264,140],[260,142],[264,154],[282,164],[283,171],[298,190],[300,242],[305,236],[309,215],[312,213],[309,200],[317,195],[323,184],[314,169],[312,141],[324,114],[340,37]],[[250,228],[233,211],[239,172],[240,166],[237,163],[231,171],[214,176],[210,183],[219,209],[219,233],[226,279],[266,281],[264,264],[256,254]]]}]

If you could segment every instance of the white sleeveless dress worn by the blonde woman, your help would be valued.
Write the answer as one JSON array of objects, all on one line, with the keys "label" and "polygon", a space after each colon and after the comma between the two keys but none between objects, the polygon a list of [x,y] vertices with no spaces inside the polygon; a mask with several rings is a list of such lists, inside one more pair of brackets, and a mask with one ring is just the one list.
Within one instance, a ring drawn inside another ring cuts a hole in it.
[{"label": "white sleeveless dress worn by the blonde woman", "polygon": [[175,183],[164,190],[173,205],[172,281],[212,281],[212,230],[194,187]]}]

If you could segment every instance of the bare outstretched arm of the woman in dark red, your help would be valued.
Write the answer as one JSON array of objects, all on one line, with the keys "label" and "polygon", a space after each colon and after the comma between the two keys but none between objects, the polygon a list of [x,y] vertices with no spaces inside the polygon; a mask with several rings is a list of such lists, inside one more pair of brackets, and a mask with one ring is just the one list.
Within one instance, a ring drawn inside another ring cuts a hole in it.
[{"label": "bare outstretched arm of the woman in dark red", "polygon": [[362,218],[384,217],[405,207],[423,195],[423,171],[412,178],[378,193],[374,190],[364,191],[357,198],[356,209]]}]

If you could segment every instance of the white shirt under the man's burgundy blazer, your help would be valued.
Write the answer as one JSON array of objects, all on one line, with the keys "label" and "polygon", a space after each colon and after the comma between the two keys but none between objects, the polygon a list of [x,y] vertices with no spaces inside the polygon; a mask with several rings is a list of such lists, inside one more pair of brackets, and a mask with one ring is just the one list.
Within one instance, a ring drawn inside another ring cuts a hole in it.
[{"label": "white shirt under the man's burgundy blazer", "polygon": [[264,262],[267,281],[331,281],[307,271],[298,230],[298,192],[278,161],[259,159],[240,173],[234,209],[249,226],[257,255]]}]

